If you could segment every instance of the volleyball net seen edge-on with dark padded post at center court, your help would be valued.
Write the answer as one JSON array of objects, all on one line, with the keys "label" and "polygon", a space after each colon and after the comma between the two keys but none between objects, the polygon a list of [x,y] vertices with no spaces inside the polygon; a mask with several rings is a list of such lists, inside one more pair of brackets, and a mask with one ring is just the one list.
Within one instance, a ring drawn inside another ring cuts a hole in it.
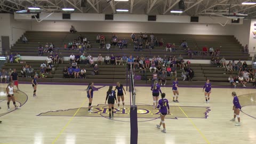
[{"label": "volleyball net seen edge-on with dark padded post at center court", "polygon": [[131,124],[131,144],[138,143],[138,117],[137,117],[137,106],[136,106],[136,92],[134,85],[134,72],[132,64],[128,65],[130,71],[130,99],[131,99],[131,108],[130,108],[130,124]]}]

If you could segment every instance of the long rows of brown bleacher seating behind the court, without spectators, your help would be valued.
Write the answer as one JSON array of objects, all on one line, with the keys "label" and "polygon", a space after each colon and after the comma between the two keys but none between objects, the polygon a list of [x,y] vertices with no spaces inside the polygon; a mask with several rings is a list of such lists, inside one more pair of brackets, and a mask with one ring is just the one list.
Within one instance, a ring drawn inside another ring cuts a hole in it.
[{"label": "long rows of brown bleacher seating behind the court, without spectators", "polygon": [[[54,51],[61,52],[63,56],[69,57],[71,52],[76,53],[76,50],[65,50],[63,49],[64,43],[68,44],[69,41],[73,41],[77,38],[78,35],[85,36],[87,39],[90,40],[92,44],[92,50],[87,50],[87,53],[90,53],[93,57],[98,57],[98,54],[101,53],[102,57],[105,57],[108,53],[113,53],[114,55],[123,55],[126,54],[127,56],[132,54],[133,56],[143,54],[145,57],[148,56],[149,58],[153,57],[153,55],[160,55],[163,58],[164,54],[167,55],[176,55],[178,57],[179,54],[182,54],[184,59],[188,59],[186,51],[178,48],[176,52],[166,52],[164,47],[155,47],[153,50],[143,50],[143,52],[134,52],[133,51],[133,44],[130,41],[130,35],[128,33],[116,33],[118,38],[126,38],[129,41],[127,49],[119,50],[117,47],[116,49],[111,49],[110,51],[107,50],[100,50],[99,43],[95,43],[96,35],[98,33],[76,33],[76,34],[69,34],[68,32],[47,32],[47,31],[27,31],[25,36],[28,39],[28,43],[23,44],[21,40],[19,40],[11,49],[11,52],[19,52],[21,56],[23,55],[38,55],[38,45],[45,43],[53,43],[56,47]],[[111,33],[100,33],[105,35],[106,43],[110,42]],[[138,35],[138,34],[137,34]],[[251,60],[249,54],[245,54],[242,51],[242,46],[239,44],[237,39],[234,36],[218,36],[218,35],[174,35],[174,34],[155,34],[155,37],[164,39],[164,42],[175,43],[178,47],[182,39],[186,39],[188,42],[188,46],[192,49],[195,43],[198,44],[199,47],[213,46],[214,49],[216,47],[221,46],[221,53],[220,57],[225,56],[226,60]],[[47,55],[49,53],[44,53]],[[194,59],[206,59],[210,60],[210,56],[203,56],[203,55],[195,55]],[[39,66],[44,61],[40,60],[26,60],[26,63],[5,63],[2,69],[10,69],[16,68],[17,71],[20,73],[21,67],[25,66],[27,63],[31,65],[37,73],[39,73]],[[126,83],[126,66],[119,66],[119,65],[99,65],[99,75],[91,75],[93,68],[90,68],[89,65],[78,65],[81,68],[86,69],[86,79],[73,79],[73,78],[63,78],[62,70],[63,67],[69,67],[68,61],[65,61],[63,64],[55,64],[54,70],[51,71],[51,74],[47,74],[47,78],[39,79],[39,82],[66,82],[66,83],[87,83],[87,82],[95,82],[95,83],[114,83],[114,82],[121,82]],[[193,81],[182,81],[181,70],[177,70],[178,79],[180,80],[180,84],[185,85],[197,85],[197,84],[204,84],[206,78],[209,78],[213,85],[230,85],[228,83],[228,74],[223,68],[213,67],[210,64],[195,64],[191,63],[190,67],[195,72],[195,77]],[[141,75],[139,73],[139,69],[135,70],[135,75]],[[135,81],[137,84],[150,84],[151,82],[149,79],[152,78],[153,73],[150,73],[149,70],[147,71],[147,79],[148,81],[137,80]],[[237,71],[234,71],[233,74],[237,74]],[[20,75],[21,76],[21,75]],[[173,77],[167,77],[167,84],[172,83]],[[31,81],[30,78],[20,78],[20,81]]]}]

